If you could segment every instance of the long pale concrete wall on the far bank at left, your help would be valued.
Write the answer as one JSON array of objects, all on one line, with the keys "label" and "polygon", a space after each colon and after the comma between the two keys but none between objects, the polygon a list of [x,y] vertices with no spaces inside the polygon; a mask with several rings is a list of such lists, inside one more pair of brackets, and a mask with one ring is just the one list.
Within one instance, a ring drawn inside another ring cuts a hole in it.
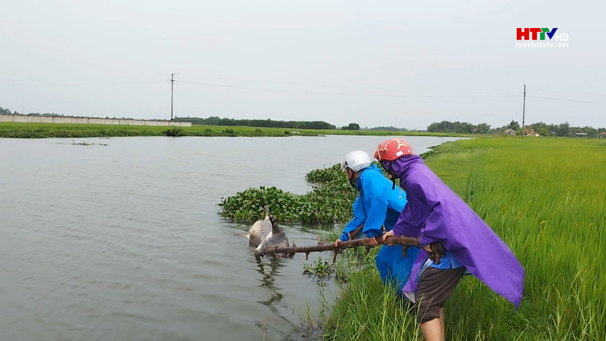
[{"label": "long pale concrete wall on the far bank at left", "polygon": [[156,120],[119,120],[118,118],[96,117],[56,117],[0,115],[0,122],[19,123],[70,123],[70,124],[122,124],[125,126],[178,126],[191,127],[191,122],[156,121]]}]

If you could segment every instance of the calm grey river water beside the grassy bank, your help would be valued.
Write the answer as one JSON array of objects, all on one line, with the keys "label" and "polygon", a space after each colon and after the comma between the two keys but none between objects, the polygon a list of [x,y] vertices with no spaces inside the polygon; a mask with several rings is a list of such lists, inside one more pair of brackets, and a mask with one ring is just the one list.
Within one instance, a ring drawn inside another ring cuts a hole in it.
[{"label": "calm grey river water beside the grassy bank", "polygon": [[[322,291],[304,254],[256,261],[250,226],[216,204],[248,187],[304,194],[309,170],[385,138],[0,139],[0,340],[302,339]],[[422,153],[456,138],[407,140]]]}]

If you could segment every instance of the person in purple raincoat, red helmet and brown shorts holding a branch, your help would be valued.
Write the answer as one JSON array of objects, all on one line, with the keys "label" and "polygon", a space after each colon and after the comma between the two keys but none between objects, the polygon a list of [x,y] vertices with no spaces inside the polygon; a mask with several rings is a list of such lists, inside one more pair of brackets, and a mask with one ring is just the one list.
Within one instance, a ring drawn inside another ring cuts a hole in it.
[{"label": "person in purple raincoat, red helmet and brown shorts holding a branch", "polygon": [[[420,240],[421,251],[402,292],[419,309],[417,320],[425,339],[444,340],[444,302],[464,273],[473,274],[518,309],[525,272],[501,238],[425,166],[406,141],[384,141],[375,158],[393,181],[400,179],[407,198],[396,225],[384,237]],[[436,242],[445,249],[438,265],[428,259],[430,244]]]}]

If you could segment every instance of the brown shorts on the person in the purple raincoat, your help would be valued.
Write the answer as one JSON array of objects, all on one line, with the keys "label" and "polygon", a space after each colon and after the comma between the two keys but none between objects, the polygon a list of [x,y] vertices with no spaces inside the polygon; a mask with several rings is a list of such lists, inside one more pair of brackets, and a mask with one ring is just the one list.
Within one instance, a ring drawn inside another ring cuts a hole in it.
[{"label": "brown shorts on the person in the purple raincoat", "polygon": [[417,322],[424,323],[440,317],[440,308],[465,273],[465,266],[456,269],[427,268],[422,272],[415,292]]}]

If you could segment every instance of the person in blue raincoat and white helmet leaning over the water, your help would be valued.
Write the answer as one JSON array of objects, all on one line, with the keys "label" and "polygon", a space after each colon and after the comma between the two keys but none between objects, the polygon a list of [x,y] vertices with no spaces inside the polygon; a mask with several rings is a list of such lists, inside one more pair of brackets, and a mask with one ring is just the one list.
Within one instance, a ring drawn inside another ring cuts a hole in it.
[{"label": "person in blue raincoat and white helmet leaning over the water", "polygon": [[[395,188],[381,169],[372,163],[367,152],[353,150],[345,155],[341,167],[351,185],[358,189],[359,195],[352,205],[354,217],[345,225],[335,246],[361,234],[372,238],[371,245],[378,246],[375,237],[381,237],[384,231],[391,231],[404,209],[406,195],[401,189]],[[381,279],[385,285],[395,286],[400,296],[403,296],[401,288],[410,277],[418,253],[418,248],[410,246],[407,257],[404,257],[402,245],[384,245],[375,258]]]}]

